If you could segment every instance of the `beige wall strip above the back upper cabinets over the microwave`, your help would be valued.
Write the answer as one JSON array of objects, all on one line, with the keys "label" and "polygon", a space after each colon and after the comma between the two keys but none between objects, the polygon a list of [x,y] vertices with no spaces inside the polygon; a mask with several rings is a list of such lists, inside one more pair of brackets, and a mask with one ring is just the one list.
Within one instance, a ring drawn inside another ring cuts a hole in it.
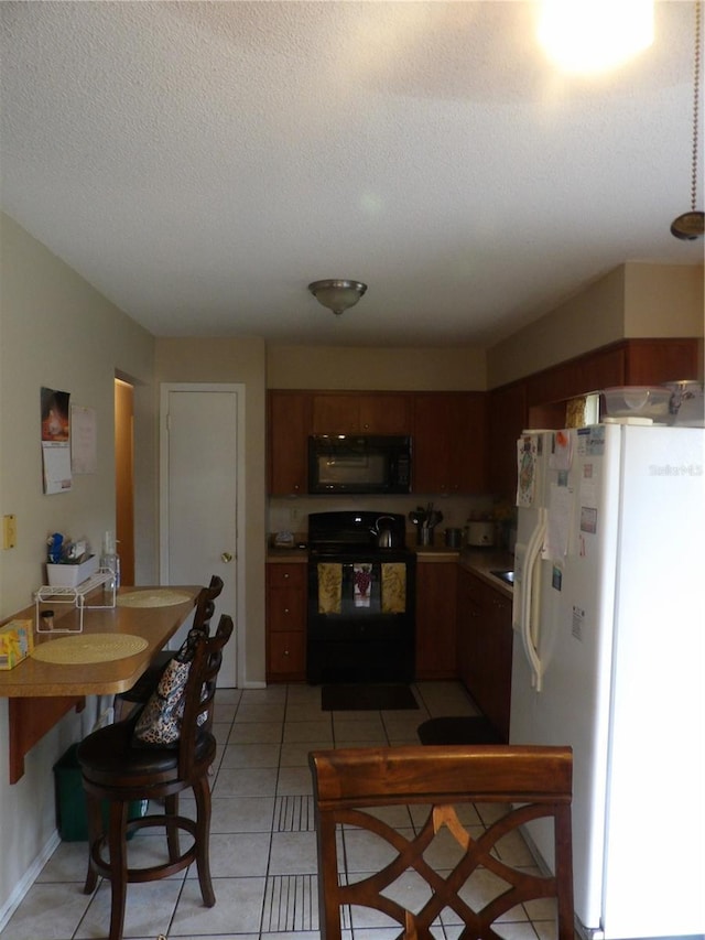
[{"label": "beige wall strip above the back upper cabinets over the microwave", "polygon": [[268,388],[476,391],[487,385],[485,349],[269,346]]}]

